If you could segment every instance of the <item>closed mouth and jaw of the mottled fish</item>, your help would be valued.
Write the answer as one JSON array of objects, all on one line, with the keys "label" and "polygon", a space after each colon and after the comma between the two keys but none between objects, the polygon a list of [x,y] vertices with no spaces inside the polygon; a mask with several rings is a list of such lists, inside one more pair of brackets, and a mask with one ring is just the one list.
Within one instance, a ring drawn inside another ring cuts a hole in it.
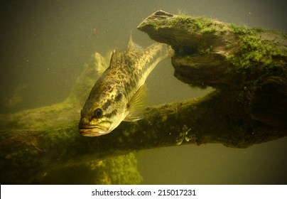
[{"label": "closed mouth and jaw of the mottled fish", "polygon": [[97,125],[85,124],[86,119],[81,119],[79,124],[79,133],[82,136],[102,136],[104,134],[109,134],[112,131],[111,122],[100,122]]}]

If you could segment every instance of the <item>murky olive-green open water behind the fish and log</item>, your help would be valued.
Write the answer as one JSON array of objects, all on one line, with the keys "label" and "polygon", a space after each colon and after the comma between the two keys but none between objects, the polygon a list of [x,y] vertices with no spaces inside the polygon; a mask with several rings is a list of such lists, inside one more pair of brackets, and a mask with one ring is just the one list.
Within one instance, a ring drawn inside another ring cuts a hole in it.
[{"label": "murky olive-green open water behind the fish and log", "polygon": [[[159,9],[286,32],[286,8],[279,0],[6,1],[0,11],[0,114],[63,102],[91,55],[126,48],[130,32],[135,43],[151,45],[154,41],[136,27]],[[150,105],[212,90],[177,80],[170,60],[158,64],[146,85]],[[189,144],[135,156],[143,184],[286,184],[286,152],[285,137],[248,149]],[[65,178],[69,174],[61,173],[45,183],[67,183]]]}]

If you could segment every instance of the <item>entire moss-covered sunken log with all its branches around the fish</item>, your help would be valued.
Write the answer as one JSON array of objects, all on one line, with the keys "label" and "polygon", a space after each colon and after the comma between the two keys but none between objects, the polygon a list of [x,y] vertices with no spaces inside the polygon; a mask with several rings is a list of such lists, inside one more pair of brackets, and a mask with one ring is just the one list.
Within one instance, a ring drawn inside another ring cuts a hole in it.
[{"label": "entire moss-covered sunken log with all its branches around the fish", "polygon": [[[93,183],[139,183],[131,151],[207,143],[246,148],[286,136],[286,36],[163,11],[139,29],[172,45],[175,77],[216,90],[147,107],[144,119],[122,122],[110,134],[80,136],[80,109],[97,70],[107,67],[96,53],[63,103],[0,115],[1,183],[45,183],[51,173],[77,166],[94,173]],[[108,173],[116,170],[113,179]]]}]

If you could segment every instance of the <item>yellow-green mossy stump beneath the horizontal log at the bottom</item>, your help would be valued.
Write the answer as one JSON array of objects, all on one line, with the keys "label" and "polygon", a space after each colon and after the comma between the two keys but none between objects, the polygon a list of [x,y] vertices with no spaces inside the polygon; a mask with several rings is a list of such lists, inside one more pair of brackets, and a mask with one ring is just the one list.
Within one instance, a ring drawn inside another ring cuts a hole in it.
[{"label": "yellow-green mossy stump beneath the horizontal log at the bottom", "polygon": [[[55,175],[58,178],[55,178]],[[65,166],[48,171],[43,178],[45,184],[94,184],[129,185],[140,184],[143,178],[137,170],[133,153],[112,158],[97,158],[77,166]]]}]

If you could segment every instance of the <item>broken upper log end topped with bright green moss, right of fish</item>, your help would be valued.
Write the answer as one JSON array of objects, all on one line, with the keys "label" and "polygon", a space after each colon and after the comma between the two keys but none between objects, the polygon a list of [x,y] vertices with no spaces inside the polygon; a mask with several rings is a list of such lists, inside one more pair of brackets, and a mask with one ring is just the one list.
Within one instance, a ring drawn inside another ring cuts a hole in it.
[{"label": "broken upper log end topped with bright green moss, right of fish", "polygon": [[175,50],[175,77],[189,84],[240,87],[286,77],[287,35],[209,18],[157,11],[138,27]]}]

